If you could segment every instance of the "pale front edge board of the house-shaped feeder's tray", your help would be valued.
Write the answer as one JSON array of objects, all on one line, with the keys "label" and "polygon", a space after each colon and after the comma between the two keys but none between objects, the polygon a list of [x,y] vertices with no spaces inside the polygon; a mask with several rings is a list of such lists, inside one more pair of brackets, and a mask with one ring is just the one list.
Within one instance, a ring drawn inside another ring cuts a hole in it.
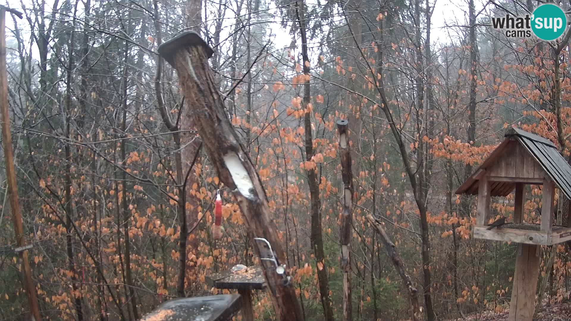
[{"label": "pale front edge board of the house-shaped feeder's tray", "polygon": [[550,232],[518,230],[517,228],[493,228],[476,225],[472,228],[473,236],[476,239],[497,240],[513,243],[548,245]]}]

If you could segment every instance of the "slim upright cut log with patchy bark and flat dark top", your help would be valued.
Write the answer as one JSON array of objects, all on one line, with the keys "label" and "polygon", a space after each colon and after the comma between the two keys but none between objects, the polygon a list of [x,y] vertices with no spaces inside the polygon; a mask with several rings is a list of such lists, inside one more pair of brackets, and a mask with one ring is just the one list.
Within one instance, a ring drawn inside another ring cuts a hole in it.
[{"label": "slim upright cut log with patchy bark and flat dark top", "polygon": [[353,172],[351,171],[351,153],[349,151],[348,121],[337,121],[339,131],[339,154],[341,157],[341,176],[343,178],[343,213],[341,214],[341,272],[343,273],[343,320],[352,320],[351,308],[351,221],[353,210]]}]

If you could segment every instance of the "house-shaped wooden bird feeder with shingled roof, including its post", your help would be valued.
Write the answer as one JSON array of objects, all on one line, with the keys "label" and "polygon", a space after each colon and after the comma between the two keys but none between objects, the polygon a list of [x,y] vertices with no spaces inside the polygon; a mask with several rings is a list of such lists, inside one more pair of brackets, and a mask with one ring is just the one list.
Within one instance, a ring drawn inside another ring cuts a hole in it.
[{"label": "house-shaped wooden bird feeder with shingled roof, including its post", "polygon": [[[456,194],[478,195],[477,239],[498,240],[518,244],[516,270],[508,320],[531,321],[535,307],[540,267],[540,246],[571,240],[571,228],[553,226],[555,188],[571,198],[571,166],[548,139],[520,129],[510,129],[506,139],[456,191]],[[522,222],[525,184],[543,185],[541,224]],[[507,196],[513,190],[515,208],[513,222],[487,230],[490,196]],[[564,213],[568,215],[569,212]]]}]

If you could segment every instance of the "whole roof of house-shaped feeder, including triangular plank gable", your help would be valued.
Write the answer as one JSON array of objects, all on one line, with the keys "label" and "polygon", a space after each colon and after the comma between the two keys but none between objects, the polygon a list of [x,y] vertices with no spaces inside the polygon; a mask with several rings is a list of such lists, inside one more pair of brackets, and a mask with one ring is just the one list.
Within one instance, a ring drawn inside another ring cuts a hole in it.
[{"label": "whole roof of house-shaped feeder, including triangular plank gable", "polygon": [[[517,128],[509,129],[505,137],[456,194],[477,195],[482,175],[493,174],[496,178],[491,186],[491,196],[509,195],[517,182],[539,183],[537,179],[547,176],[571,199],[571,166],[557,151],[557,146],[548,139]],[[498,170],[498,167],[502,168]]]}]

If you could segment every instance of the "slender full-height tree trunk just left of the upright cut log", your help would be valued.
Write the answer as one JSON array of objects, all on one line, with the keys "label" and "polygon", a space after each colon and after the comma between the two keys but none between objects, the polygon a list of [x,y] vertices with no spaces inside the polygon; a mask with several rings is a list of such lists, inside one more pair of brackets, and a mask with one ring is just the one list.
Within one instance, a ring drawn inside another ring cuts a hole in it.
[{"label": "slender full-height tree trunk just left of the upright cut log", "polygon": [[[307,35],[305,26],[305,6],[303,0],[297,0],[296,6],[297,21],[301,34],[301,57],[303,61],[303,73],[309,76],[309,57],[307,54]],[[313,132],[311,129],[311,110],[308,110],[311,99],[311,86],[309,79],[305,80],[303,94],[303,109],[305,110],[305,159],[311,161],[313,157]],[[321,228],[321,200],[319,198],[319,182],[314,168],[307,169],[307,183],[309,185],[309,195],[311,197],[311,248],[315,255],[317,264],[317,280],[319,280],[319,294],[321,295],[321,305],[323,306],[323,319],[333,320],[333,310],[331,298],[329,298],[329,281],[327,280],[327,264],[325,264],[325,254],[323,250],[323,234]]]}]

